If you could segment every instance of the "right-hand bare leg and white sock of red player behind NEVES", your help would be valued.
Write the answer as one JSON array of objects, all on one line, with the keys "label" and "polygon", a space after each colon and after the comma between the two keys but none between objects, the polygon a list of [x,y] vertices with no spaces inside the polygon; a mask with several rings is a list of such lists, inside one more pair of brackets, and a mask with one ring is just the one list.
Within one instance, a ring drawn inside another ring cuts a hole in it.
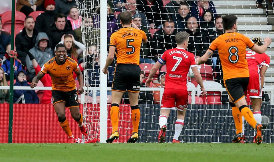
[{"label": "right-hand bare leg and white sock of red player behind NEVES", "polygon": [[[262,99],[261,98],[250,98],[251,103],[252,103],[252,109],[253,109],[253,116],[257,123],[261,124],[262,123],[262,113],[261,113],[261,105],[262,105]],[[255,142],[255,129],[254,129],[254,140],[253,143]]]}]

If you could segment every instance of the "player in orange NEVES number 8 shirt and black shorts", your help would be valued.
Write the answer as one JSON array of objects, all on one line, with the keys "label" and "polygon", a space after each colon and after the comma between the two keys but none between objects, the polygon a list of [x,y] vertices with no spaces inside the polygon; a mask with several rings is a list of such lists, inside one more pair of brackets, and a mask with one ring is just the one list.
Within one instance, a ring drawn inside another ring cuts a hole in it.
[{"label": "player in orange NEVES number 8 shirt and black shorts", "polygon": [[244,139],[241,118],[243,116],[254,128],[256,132],[255,141],[257,144],[260,144],[262,141],[262,125],[256,122],[245,100],[245,90],[249,82],[249,70],[245,59],[245,51],[246,47],[249,47],[257,53],[264,53],[268,45],[270,45],[271,39],[269,37],[265,38],[265,44],[258,46],[248,37],[237,33],[237,17],[234,15],[223,17],[223,28],[225,31],[224,34],[217,37],[211,43],[206,54],[200,57],[197,64],[205,63],[213,52],[218,50],[223,67],[223,80],[229,95],[229,105],[232,108],[232,116],[236,127],[236,134],[232,141],[238,143]]}]

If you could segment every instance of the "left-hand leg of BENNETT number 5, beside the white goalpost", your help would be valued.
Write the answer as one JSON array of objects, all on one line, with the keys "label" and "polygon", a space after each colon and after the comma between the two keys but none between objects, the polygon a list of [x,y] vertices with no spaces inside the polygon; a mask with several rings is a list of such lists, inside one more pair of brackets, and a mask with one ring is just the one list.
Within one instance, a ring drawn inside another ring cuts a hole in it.
[{"label": "left-hand leg of BENNETT number 5, beside the white goalpost", "polygon": [[119,138],[119,134],[118,134],[118,123],[119,123],[119,117],[120,117],[119,103],[121,101],[123,94],[124,92],[112,90],[112,103],[111,103],[111,109],[110,109],[112,133],[110,137],[106,140],[107,143],[112,143],[114,139]]}]

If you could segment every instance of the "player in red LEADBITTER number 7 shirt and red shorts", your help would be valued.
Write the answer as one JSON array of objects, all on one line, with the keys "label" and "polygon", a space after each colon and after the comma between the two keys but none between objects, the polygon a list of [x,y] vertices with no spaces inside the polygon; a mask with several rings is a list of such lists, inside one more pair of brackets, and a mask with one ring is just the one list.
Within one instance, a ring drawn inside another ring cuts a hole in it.
[{"label": "player in red LEADBITTER number 7 shirt and red shorts", "polygon": [[187,75],[191,68],[196,81],[201,86],[202,95],[206,91],[202,81],[198,65],[196,65],[196,58],[193,53],[186,51],[188,47],[189,34],[186,32],[179,32],[175,35],[177,47],[169,49],[164,52],[160,59],[150,70],[148,79],[146,81],[147,87],[153,81],[153,75],[164,64],[166,64],[166,81],[165,90],[161,103],[161,115],[159,117],[159,125],[161,128],[158,140],[164,142],[166,134],[166,123],[171,109],[177,109],[177,120],[175,122],[175,134],[173,143],[180,143],[178,140],[179,135],[184,126],[184,118],[186,109],[188,108],[188,87]]}]

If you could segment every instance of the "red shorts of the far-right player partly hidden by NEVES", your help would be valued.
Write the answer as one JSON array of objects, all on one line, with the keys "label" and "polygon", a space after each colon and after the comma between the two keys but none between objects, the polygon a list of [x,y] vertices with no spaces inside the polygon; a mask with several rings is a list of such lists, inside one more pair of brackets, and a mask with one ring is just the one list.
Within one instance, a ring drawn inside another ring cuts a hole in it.
[{"label": "red shorts of the far-right player partly hidden by NEVES", "polygon": [[262,98],[262,86],[260,74],[249,70],[249,83],[247,85],[247,94],[250,98]]}]

